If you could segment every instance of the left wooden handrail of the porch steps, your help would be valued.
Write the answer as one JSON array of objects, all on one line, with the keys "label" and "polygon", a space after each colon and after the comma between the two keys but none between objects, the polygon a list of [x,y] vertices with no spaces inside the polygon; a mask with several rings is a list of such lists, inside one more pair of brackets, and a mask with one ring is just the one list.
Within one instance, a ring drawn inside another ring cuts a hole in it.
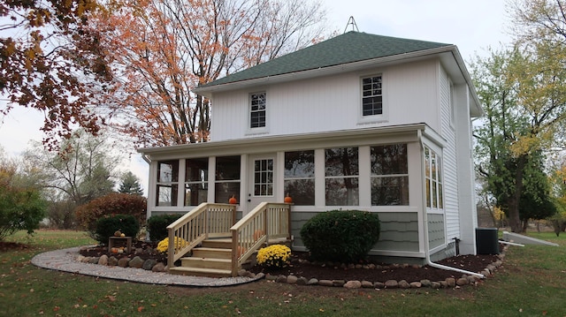
[{"label": "left wooden handrail of the porch steps", "polygon": [[[202,203],[167,226],[169,246],[167,265],[209,237],[230,237],[230,227],[236,222],[236,205]],[[176,242],[176,243],[175,243]]]}]

